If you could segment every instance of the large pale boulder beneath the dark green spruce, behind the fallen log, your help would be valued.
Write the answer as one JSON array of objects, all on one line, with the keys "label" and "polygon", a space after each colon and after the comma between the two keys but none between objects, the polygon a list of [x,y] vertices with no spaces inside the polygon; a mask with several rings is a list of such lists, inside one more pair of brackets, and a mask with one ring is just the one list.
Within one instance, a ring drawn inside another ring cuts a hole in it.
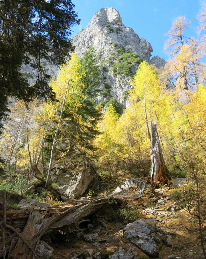
[{"label": "large pale boulder beneath the dark green spruce, behind the fallen log", "polygon": [[74,173],[70,168],[64,168],[64,166],[56,164],[51,172],[50,182],[58,185],[54,188],[62,194],[62,199],[65,200],[65,198],[82,195],[94,177],[95,173],[92,168],[83,168]]}]

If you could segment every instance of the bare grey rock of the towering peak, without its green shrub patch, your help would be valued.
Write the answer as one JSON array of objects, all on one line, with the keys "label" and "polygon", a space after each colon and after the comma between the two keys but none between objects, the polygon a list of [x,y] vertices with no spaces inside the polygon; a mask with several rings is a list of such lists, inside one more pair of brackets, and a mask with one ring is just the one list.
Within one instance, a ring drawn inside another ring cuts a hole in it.
[{"label": "bare grey rock of the towering peak, without its green shrub patch", "polygon": [[[137,53],[139,57],[150,63],[152,47],[150,43],[139,36],[130,27],[126,28],[118,11],[114,8],[102,8],[92,18],[88,26],[76,34],[73,38],[76,52],[82,57],[88,47],[94,47],[99,56],[99,64],[106,68],[101,69],[101,76],[104,82],[100,89],[105,90],[105,84],[110,85],[111,98],[117,99],[119,103],[127,106],[124,91],[131,88],[128,75],[114,75],[112,68],[111,53],[114,53],[120,46],[126,50]],[[135,73],[138,65],[132,66]],[[101,102],[106,98],[99,96]]]}]

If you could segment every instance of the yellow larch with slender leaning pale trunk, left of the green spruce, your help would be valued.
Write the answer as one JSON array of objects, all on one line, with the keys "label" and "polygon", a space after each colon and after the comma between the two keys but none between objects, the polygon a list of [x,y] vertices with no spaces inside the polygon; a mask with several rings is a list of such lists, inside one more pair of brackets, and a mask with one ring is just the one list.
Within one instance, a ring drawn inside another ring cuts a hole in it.
[{"label": "yellow larch with slender leaning pale trunk, left of the green spruce", "polygon": [[80,80],[82,77],[80,73],[80,66],[80,60],[78,56],[76,55],[76,53],[73,53],[71,60],[60,67],[60,72],[57,76],[57,79],[55,81],[51,81],[50,83],[50,86],[54,89],[54,92],[57,95],[58,104],[56,105],[55,109],[53,107],[54,104],[46,104],[45,112],[48,114],[48,116],[54,117],[58,124],[55,130],[53,144],[51,148],[51,157],[45,187],[49,186],[56,138],[62,123],[62,114],[65,109],[65,106],[70,109],[70,112],[74,116],[74,120],[81,123],[81,116],[78,115],[76,112],[78,110],[78,107],[81,106],[79,98],[82,97],[81,88],[84,87]]}]

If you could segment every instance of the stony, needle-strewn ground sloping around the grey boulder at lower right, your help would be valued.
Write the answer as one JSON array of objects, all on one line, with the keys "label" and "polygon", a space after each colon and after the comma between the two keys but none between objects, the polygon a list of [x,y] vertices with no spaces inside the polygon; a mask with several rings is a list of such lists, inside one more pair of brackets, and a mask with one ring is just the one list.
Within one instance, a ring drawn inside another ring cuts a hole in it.
[{"label": "stony, needle-strewn ground sloping around the grey boulder at lower right", "polygon": [[[173,186],[163,186],[153,192],[145,189],[144,196],[136,201],[131,200],[124,205],[115,202],[109,204],[104,211],[93,215],[90,221],[82,223],[80,228],[83,232],[77,236],[65,236],[61,233],[59,238],[52,238],[51,246],[54,252],[51,258],[153,258],[123,235],[124,227],[135,219],[155,220],[159,234],[163,235],[163,245],[157,258],[204,258],[195,221],[186,209],[187,202],[178,195],[182,189],[183,187]],[[168,211],[169,207],[172,211]],[[122,208],[126,211],[137,208],[139,214],[132,220],[126,215],[122,217]]]}]

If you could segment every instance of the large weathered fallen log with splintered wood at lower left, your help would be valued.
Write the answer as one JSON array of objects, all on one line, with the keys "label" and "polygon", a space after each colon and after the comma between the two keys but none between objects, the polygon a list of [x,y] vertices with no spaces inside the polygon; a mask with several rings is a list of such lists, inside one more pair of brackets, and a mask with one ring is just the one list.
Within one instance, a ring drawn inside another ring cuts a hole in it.
[{"label": "large weathered fallen log with splintered wood at lower left", "polygon": [[[9,246],[6,246],[6,252],[9,250],[10,259],[38,258],[36,251],[43,235],[55,231],[64,231],[65,233],[82,231],[79,228],[79,224],[86,217],[108,204],[110,200],[114,199],[119,202],[125,202],[131,199],[139,199],[142,195],[142,190],[136,190],[135,192],[108,195],[92,200],[76,200],[62,203],[52,208],[34,207],[32,210],[7,210],[5,216],[6,222],[5,217],[3,217],[3,226],[17,236],[17,242],[15,244],[12,242],[12,249],[10,250]],[[5,214],[5,203],[6,201],[3,202],[4,210],[1,210],[0,206],[0,217],[3,216],[3,211]],[[20,233],[12,225],[13,223],[17,224],[18,221],[22,222],[22,220],[27,221],[27,223],[23,232]],[[11,237],[7,243],[11,243],[11,240],[14,239]]]}]

